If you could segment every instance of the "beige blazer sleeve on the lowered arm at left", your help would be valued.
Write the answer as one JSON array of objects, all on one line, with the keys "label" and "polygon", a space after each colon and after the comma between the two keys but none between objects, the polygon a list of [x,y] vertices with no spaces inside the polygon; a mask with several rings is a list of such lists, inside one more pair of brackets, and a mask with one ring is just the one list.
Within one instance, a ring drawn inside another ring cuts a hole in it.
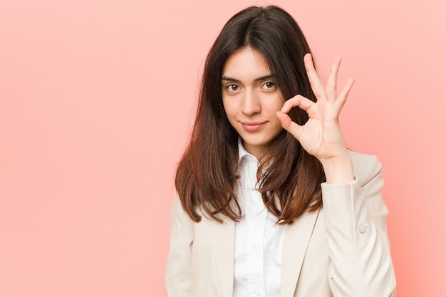
[{"label": "beige blazer sleeve on the lowered arm at left", "polygon": [[170,249],[165,271],[168,297],[192,296],[193,222],[175,197],[170,213]]}]

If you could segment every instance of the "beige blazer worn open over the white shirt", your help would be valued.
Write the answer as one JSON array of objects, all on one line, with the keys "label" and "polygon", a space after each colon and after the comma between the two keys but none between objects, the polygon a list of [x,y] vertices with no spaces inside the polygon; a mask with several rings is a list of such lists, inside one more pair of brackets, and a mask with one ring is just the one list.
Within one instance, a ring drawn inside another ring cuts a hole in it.
[{"label": "beige blazer worn open over the white shirt", "polygon": [[[381,165],[356,152],[351,159],[356,181],[321,184],[323,209],[286,226],[281,297],[395,296]],[[230,219],[192,222],[175,199],[165,274],[169,297],[232,297],[234,228]]]}]

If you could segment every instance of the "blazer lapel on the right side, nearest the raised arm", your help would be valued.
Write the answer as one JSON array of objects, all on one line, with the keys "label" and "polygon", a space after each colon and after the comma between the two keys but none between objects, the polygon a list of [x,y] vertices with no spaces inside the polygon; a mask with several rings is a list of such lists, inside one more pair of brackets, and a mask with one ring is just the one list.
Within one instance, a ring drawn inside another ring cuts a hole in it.
[{"label": "blazer lapel on the right side, nearest the raised arm", "polygon": [[292,297],[319,211],[302,214],[286,225],[281,266],[281,297]]}]

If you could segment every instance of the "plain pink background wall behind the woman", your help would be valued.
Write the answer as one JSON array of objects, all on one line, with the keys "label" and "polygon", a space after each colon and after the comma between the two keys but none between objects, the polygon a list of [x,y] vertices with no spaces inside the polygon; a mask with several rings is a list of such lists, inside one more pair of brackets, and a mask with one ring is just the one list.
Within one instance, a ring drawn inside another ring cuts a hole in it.
[{"label": "plain pink background wall behind the woman", "polygon": [[[0,1],[0,296],[165,296],[173,172],[204,57],[256,1]],[[356,78],[398,296],[446,296],[446,4],[276,1]]]}]

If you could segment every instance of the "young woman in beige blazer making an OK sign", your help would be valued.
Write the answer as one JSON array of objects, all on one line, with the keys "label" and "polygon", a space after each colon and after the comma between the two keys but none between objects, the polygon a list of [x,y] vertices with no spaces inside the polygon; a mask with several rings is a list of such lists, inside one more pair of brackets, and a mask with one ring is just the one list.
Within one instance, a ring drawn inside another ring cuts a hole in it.
[{"label": "young woman in beige blazer making an OK sign", "polygon": [[394,296],[381,167],[343,142],[340,63],[323,85],[276,6],[224,26],[177,168],[168,296]]}]

